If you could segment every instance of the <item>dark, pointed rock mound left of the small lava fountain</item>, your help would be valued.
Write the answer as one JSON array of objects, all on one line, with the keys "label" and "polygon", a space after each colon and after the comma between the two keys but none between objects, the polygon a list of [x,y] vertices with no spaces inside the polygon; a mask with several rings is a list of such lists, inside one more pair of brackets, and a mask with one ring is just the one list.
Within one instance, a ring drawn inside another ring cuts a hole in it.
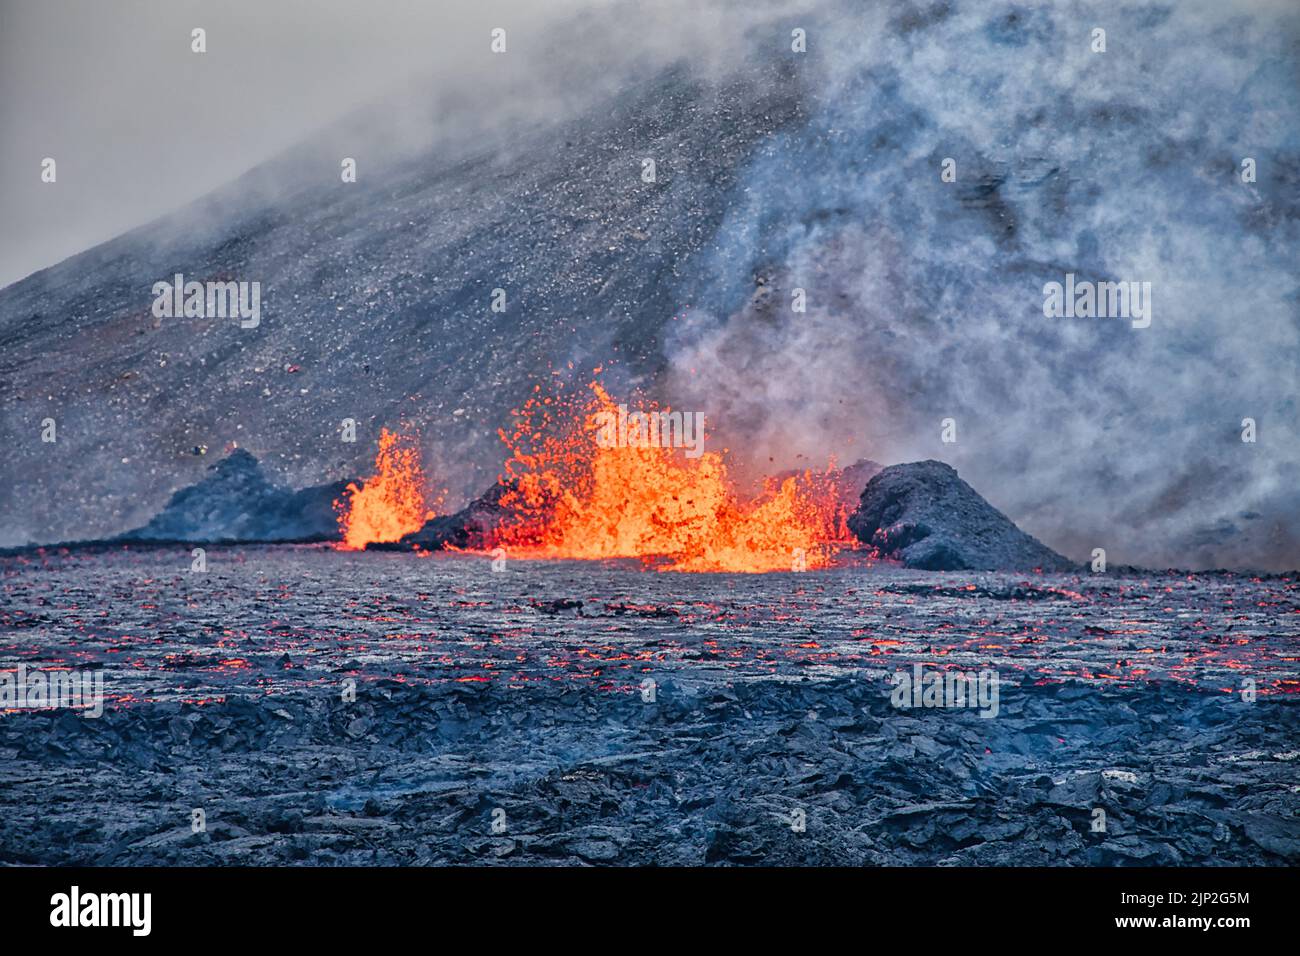
[{"label": "dark, pointed rock mound left of the small lava fountain", "polygon": [[324,541],[338,537],[335,498],[346,481],[292,490],[272,484],[257,459],[237,449],[198,484],[172,496],[143,528],[120,541]]}]

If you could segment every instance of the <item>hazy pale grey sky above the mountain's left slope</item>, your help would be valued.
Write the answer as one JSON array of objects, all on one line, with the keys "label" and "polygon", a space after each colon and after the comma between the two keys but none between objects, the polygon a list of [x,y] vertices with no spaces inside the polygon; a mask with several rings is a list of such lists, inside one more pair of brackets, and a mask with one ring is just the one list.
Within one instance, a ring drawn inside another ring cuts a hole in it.
[{"label": "hazy pale grey sky above the mountain's left slope", "polygon": [[[581,0],[0,0],[0,286],[195,199]],[[207,30],[208,52],[190,51]],[[40,181],[44,157],[57,182]]]}]

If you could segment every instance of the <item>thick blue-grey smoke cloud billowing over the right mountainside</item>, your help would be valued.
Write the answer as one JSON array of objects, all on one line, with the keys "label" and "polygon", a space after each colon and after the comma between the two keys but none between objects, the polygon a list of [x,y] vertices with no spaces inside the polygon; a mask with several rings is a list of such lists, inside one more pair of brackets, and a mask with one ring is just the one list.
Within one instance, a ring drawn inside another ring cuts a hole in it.
[{"label": "thick blue-grey smoke cloud billowing over the right mountainside", "polygon": [[[814,116],[741,177],[668,392],[763,466],[948,460],[1080,559],[1300,563],[1296,12],[818,13]],[[1150,326],[1046,319],[1069,272],[1150,282]]]}]

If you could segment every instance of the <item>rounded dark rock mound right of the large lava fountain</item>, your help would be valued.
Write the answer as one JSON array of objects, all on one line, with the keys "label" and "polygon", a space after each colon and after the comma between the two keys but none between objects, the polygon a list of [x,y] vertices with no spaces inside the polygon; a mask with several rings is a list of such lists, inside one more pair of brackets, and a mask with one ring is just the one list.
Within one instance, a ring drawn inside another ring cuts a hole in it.
[{"label": "rounded dark rock mound right of the large lava fountain", "polygon": [[942,462],[893,464],[862,492],[849,529],[883,557],[926,571],[1069,571]]}]

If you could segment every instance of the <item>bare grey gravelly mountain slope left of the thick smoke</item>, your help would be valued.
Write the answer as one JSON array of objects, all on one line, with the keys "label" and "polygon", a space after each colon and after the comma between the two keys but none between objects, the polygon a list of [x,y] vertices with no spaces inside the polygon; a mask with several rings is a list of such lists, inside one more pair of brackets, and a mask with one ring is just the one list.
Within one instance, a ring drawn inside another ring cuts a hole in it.
[{"label": "bare grey gravelly mountain slope left of the thick smoke", "polygon": [[[451,484],[477,492],[499,467],[497,428],[547,369],[615,359],[637,377],[662,362],[677,276],[737,170],[800,121],[798,83],[774,70],[670,70],[566,125],[348,185],[302,147],[4,289],[0,546],[138,527],[204,476],[208,449],[247,447],[294,488],[359,473],[373,442],[341,442],[344,418],[360,436],[426,427]],[[176,273],[260,282],[260,325],[156,319],[151,289]],[[55,444],[39,440],[47,418]]]}]

